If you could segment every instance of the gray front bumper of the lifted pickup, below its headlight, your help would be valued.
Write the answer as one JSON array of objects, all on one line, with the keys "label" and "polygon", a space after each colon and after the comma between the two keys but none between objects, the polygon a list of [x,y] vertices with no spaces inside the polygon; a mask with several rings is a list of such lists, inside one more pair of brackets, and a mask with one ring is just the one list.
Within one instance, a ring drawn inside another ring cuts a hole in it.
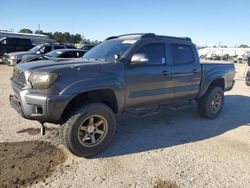
[{"label": "gray front bumper of the lifted pickup, below its headlight", "polygon": [[14,95],[10,105],[24,118],[39,122],[60,123],[61,116],[70,98],[68,96],[46,96],[22,90],[12,83]]}]

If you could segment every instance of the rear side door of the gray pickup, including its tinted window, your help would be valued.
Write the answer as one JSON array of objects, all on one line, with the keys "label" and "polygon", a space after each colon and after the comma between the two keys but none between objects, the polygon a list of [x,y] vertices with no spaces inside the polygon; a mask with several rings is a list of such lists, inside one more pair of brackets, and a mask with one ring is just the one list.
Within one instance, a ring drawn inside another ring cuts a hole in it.
[{"label": "rear side door of the gray pickup, including its tinted window", "polygon": [[172,56],[171,87],[172,101],[193,99],[199,93],[201,66],[197,61],[195,47],[190,44],[169,44]]}]

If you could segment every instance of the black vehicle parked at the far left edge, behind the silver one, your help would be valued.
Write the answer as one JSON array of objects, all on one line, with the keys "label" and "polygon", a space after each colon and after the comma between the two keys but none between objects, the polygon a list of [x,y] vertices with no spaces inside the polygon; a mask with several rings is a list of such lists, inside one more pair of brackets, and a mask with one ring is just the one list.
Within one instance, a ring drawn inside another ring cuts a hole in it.
[{"label": "black vehicle parked at the far left edge, behind the silver one", "polygon": [[30,39],[3,37],[0,39],[0,61],[3,61],[5,53],[27,51],[33,47]]}]

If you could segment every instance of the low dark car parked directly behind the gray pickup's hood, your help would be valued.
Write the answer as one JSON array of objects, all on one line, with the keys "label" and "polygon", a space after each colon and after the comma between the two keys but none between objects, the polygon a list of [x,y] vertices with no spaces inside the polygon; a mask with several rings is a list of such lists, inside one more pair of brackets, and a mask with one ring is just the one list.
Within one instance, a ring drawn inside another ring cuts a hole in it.
[{"label": "low dark car parked directly behind the gray pickup's hood", "polygon": [[23,56],[20,63],[27,63],[31,61],[38,61],[38,60],[49,60],[54,58],[80,58],[84,55],[85,51],[81,49],[59,49],[53,50],[44,55],[37,55],[37,56]]}]

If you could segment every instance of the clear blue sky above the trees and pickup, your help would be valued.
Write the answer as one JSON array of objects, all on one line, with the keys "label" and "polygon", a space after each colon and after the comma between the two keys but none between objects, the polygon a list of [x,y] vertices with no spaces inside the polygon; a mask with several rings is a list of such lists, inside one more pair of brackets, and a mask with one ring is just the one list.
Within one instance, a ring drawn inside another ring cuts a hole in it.
[{"label": "clear blue sky above the trees and pickup", "polygon": [[0,0],[0,30],[70,32],[91,40],[153,32],[199,46],[250,45],[250,0]]}]

